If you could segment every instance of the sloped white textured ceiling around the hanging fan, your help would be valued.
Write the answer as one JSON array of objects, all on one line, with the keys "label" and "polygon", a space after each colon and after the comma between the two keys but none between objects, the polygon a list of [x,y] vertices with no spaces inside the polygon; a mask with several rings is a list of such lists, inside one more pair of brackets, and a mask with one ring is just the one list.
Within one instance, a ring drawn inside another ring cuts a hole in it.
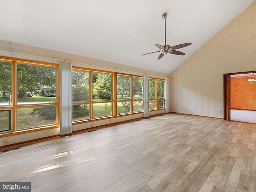
[{"label": "sloped white textured ceiling around the hanging fan", "polygon": [[[0,0],[0,40],[170,73],[254,0]],[[154,44],[191,42],[157,60]]]}]

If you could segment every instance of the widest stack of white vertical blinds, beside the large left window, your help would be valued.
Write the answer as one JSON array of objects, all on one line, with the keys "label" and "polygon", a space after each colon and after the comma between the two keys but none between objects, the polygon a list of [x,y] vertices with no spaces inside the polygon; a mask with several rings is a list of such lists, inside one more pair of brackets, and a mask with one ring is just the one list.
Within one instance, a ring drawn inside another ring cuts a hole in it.
[{"label": "widest stack of white vertical blinds, beside the large left window", "polygon": [[60,61],[60,135],[72,133],[72,64]]}]

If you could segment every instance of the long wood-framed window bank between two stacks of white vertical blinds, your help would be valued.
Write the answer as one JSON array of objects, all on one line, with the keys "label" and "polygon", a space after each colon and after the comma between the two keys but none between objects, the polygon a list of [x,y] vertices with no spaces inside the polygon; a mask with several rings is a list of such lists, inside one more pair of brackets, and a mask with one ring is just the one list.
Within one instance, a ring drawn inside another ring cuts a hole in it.
[{"label": "long wood-framed window bank between two stacks of white vertical blinds", "polygon": [[73,122],[143,112],[143,78],[114,74],[73,67]]}]

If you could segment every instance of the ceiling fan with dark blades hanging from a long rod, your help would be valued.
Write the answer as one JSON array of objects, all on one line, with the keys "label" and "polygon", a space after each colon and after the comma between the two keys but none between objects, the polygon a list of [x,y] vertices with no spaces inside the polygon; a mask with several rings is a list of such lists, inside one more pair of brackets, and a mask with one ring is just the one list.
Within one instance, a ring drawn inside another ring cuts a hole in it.
[{"label": "ceiling fan with dark blades hanging from a long rod", "polygon": [[[174,55],[185,55],[185,53],[180,52],[180,51],[176,51],[176,49],[180,49],[186,46],[191,45],[192,43],[184,43],[184,44],[179,44],[179,45],[175,45],[175,46],[170,46],[170,45],[166,45],[166,18],[167,18],[167,14],[164,13],[162,15],[162,18],[164,19],[164,45],[159,45],[159,44],[155,44],[156,47],[159,48],[159,51],[155,51],[155,52],[151,52],[151,53],[157,53],[160,52],[161,54],[158,56],[158,60],[160,58],[162,58],[165,54],[167,53],[171,53]],[[142,54],[142,55],[147,55],[147,54],[151,54],[151,53],[146,53],[146,54]]]}]

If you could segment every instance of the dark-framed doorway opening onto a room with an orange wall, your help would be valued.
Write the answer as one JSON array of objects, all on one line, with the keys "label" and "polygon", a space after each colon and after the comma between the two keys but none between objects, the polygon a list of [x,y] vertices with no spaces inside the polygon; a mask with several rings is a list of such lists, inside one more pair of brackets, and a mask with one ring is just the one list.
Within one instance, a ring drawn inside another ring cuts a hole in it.
[{"label": "dark-framed doorway opening onto a room with an orange wall", "polygon": [[256,71],[223,74],[223,119],[256,123]]}]

